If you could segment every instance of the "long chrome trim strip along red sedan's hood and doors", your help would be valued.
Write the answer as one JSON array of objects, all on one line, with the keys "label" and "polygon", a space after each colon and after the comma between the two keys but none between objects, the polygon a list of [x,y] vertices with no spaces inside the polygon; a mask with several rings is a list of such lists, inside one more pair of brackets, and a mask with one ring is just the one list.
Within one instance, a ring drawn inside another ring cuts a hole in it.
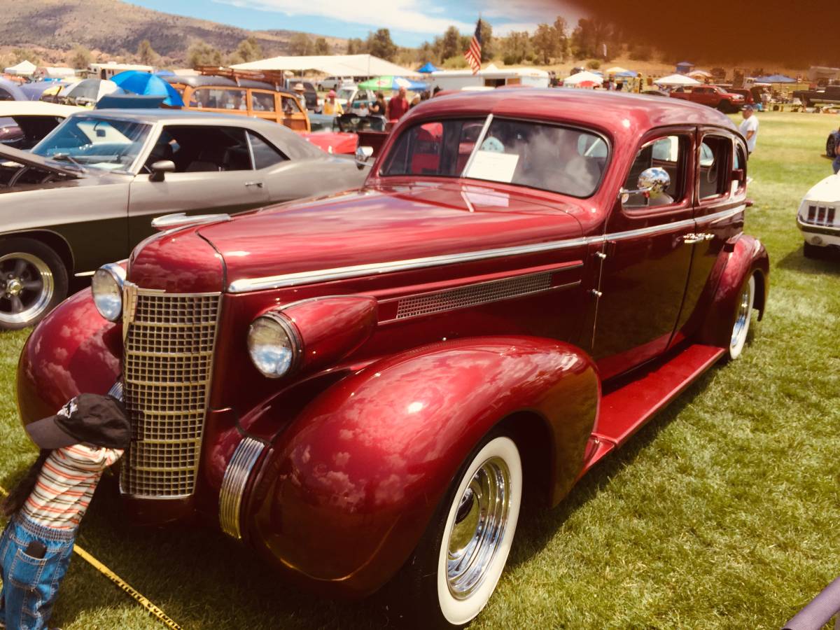
[{"label": "long chrome trim strip along red sedan's hood and doors", "polygon": [[334,267],[333,269],[322,269],[312,271],[301,271],[293,274],[281,274],[279,276],[264,276],[261,278],[245,278],[233,281],[228,285],[229,293],[247,293],[249,291],[263,291],[265,289],[281,289],[287,286],[300,286],[327,282],[333,280],[345,280],[360,276],[379,275],[395,271],[408,271],[437,267],[443,265],[455,265],[457,263],[474,262],[475,260],[489,260],[504,256],[517,256],[523,254],[538,254],[558,249],[570,249],[582,247],[591,243],[603,243],[607,240],[633,239],[645,234],[657,234],[659,232],[670,232],[674,229],[693,228],[696,222],[706,223],[711,219],[712,223],[722,221],[740,212],[746,205],[723,210],[700,218],[687,218],[675,223],[664,225],[652,225],[649,228],[638,228],[625,232],[615,232],[602,236],[589,236],[580,239],[554,240],[546,243],[535,243],[530,245],[515,245],[513,247],[500,247],[497,249],[480,249],[478,251],[464,252],[461,254],[446,254],[439,256],[428,256],[426,258],[414,258],[410,260],[391,260],[383,263],[370,263],[369,265],[351,265],[348,267]]}]

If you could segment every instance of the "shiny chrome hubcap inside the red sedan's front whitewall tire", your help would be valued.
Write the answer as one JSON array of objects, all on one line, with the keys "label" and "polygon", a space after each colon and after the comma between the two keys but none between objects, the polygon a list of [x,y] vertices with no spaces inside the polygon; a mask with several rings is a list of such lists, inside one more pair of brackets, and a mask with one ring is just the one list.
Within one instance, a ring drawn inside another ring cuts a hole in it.
[{"label": "shiny chrome hubcap inside the red sedan's front whitewall tire", "polygon": [[498,457],[488,459],[459,497],[449,533],[446,577],[457,599],[469,597],[484,581],[499,549],[511,502],[510,470]]}]

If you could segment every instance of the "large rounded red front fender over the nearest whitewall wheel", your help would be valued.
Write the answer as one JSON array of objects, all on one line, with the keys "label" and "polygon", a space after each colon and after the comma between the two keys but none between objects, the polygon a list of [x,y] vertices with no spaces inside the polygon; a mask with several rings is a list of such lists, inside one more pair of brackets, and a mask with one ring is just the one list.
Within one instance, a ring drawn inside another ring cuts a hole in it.
[{"label": "large rounded red front fender over the nearest whitewall wheel", "polygon": [[551,339],[464,339],[378,361],[277,438],[248,501],[251,541],[310,584],[369,594],[406,561],[462,461],[502,419],[524,411],[544,423],[553,496],[567,492],[599,398],[591,359]]}]

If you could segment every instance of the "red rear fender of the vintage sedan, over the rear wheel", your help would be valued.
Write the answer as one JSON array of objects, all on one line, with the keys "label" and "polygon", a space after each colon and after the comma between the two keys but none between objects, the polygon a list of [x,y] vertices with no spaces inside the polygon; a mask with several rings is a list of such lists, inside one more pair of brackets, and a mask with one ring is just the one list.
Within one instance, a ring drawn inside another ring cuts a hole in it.
[{"label": "red rear fender of the vintage sedan, over the rear wheel", "polygon": [[759,320],[764,317],[769,295],[770,259],[764,244],[748,234],[739,235],[729,244],[717,261],[711,277],[719,278],[714,286],[706,319],[701,329],[701,339],[706,344],[726,348],[732,335],[736,302],[743,281],[756,275],[754,307]]}]

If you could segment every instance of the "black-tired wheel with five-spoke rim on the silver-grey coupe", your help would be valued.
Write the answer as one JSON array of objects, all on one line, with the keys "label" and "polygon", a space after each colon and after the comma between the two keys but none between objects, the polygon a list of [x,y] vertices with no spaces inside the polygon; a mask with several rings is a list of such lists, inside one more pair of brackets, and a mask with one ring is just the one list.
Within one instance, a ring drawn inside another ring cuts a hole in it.
[{"label": "black-tired wheel with five-spoke rim on the silver-grey coupe", "polygon": [[34,239],[0,241],[0,330],[38,323],[67,295],[59,255]]}]

